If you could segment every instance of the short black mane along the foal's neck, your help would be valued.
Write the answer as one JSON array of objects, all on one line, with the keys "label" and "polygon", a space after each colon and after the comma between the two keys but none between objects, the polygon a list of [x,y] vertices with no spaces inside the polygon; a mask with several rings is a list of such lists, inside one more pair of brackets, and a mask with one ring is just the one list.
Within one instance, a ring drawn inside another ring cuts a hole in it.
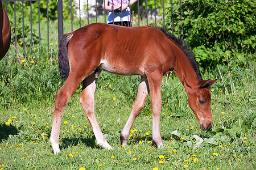
[{"label": "short black mane along the foal's neck", "polygon": [[176,36],[172,35],[172,33],[170,33],[165,28],[158,28],[158,29],[160,29],[160,31],[162,31],[164,33],[164,35],[166,35],[169,39],[174,41],[175,44],[178,45],[183,50],[183,52],[186,54],[186,56],[188,57],[189,61],[191,62],[194,70],[196,71],[198,79],[200,81],[202,81],[203,78],[202,78],[202,75],[200,73],[198,63],[197,63],[197,61],[195,59],[195,54],[192,52],[192,49],[188,45],[188,43],[186,41],[178,39]]}]

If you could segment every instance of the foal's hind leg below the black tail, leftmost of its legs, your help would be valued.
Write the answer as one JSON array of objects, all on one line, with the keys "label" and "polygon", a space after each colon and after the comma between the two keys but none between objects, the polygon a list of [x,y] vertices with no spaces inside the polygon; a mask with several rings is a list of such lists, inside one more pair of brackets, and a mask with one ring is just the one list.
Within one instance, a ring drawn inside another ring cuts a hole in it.
[{"label": "foal's hind leg below the black tail, leftmost of its legs", "polygon": [[82,79],[79,79],[76,77],[75,74],[70,73],[64,85],[55,95],[55,110],[52,121],[51,137],[49,139],[54,154],[58,154],[60,152],[59,135],[61,118],[63,116],[64,108],[67,105],[71,95],[76,91],[81,81]]}]

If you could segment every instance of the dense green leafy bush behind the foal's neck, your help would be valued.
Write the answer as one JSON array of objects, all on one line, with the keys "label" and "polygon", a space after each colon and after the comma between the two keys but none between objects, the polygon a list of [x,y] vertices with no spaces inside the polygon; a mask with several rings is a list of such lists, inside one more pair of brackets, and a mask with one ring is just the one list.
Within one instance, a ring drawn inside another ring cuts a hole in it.
[{"label": "dense green leafy bush behind the foal's neck", "polygon": [[173,17],[175,35],[188,41],[202,66],[221,65],[227,54],[237,65],[245,60],[246,54],[255,56],[253,1],[191,0],[182,1],[181,8],[179,1],[173,3],[173,16],[171,1],[165,6],[167,28],[171,29]]}]

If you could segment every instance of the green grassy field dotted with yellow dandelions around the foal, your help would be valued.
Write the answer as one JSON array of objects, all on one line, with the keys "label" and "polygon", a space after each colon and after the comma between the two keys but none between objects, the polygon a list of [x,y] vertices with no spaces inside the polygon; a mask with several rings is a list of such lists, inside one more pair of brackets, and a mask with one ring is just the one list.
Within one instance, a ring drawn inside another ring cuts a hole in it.
[{"label": "green grassy field dotted with yellow dandelions around the foal", "polygon": [[[255,169],[255,70],[249,57],[243,67],[201,69],[218,81],[212,93],[213,128],[200,129],[175,74],[162,82],[160,133],[164,148],[152,144],[150,96],[135,120],[128,146],[119,135],[137,94],[138,76],[101,73],[95,110],[111,151],[97,146],[79,103],[81,86],[64,111],[61,153],[49,145],[55,94],[63,85],[57,47],[35,47],[0,62],[0,169]],[[220,69],[220,70],[218,70]],[[225,87],[224,87],[225,85]]]}]

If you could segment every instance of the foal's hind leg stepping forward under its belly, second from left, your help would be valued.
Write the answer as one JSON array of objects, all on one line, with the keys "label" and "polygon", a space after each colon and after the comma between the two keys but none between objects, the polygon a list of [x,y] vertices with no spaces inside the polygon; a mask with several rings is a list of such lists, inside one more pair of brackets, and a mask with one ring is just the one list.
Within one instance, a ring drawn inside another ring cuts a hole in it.
[{"label": "foal's hind leg stepping forward under its belly, second from left", "polygon": [[[97,76],[99,73],[100,71],[96,73]],[[108,150],[110,150],[112,149],[112,147],[109,145],[104,135],[102,134],[100,125],[98,125],[98,121],[94,113],[94,94],[96,90],[97,76],[92,74],[83,81],[80,103],[82,105],[82,108],[84,109],[86,117],[90,122],[90,126],[92,126],[93,133],[96,137],[98,145],[104,148],[108,148]]]}]

